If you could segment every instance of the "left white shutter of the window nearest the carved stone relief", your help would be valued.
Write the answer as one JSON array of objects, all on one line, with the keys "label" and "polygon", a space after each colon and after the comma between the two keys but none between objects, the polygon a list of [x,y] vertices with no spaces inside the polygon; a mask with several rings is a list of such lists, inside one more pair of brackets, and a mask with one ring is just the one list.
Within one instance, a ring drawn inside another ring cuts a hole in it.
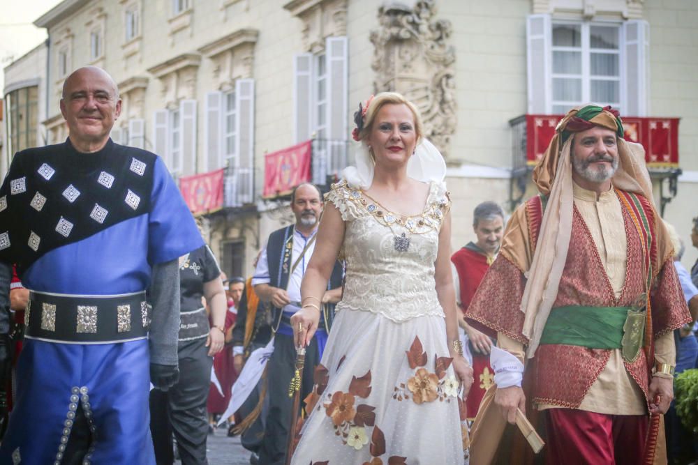
[{"label": "left white shutter of the window nearest the carved stone relief", "polygon": [[299,53],[293,57],[293,142],[310,139],[313,55]]}]

